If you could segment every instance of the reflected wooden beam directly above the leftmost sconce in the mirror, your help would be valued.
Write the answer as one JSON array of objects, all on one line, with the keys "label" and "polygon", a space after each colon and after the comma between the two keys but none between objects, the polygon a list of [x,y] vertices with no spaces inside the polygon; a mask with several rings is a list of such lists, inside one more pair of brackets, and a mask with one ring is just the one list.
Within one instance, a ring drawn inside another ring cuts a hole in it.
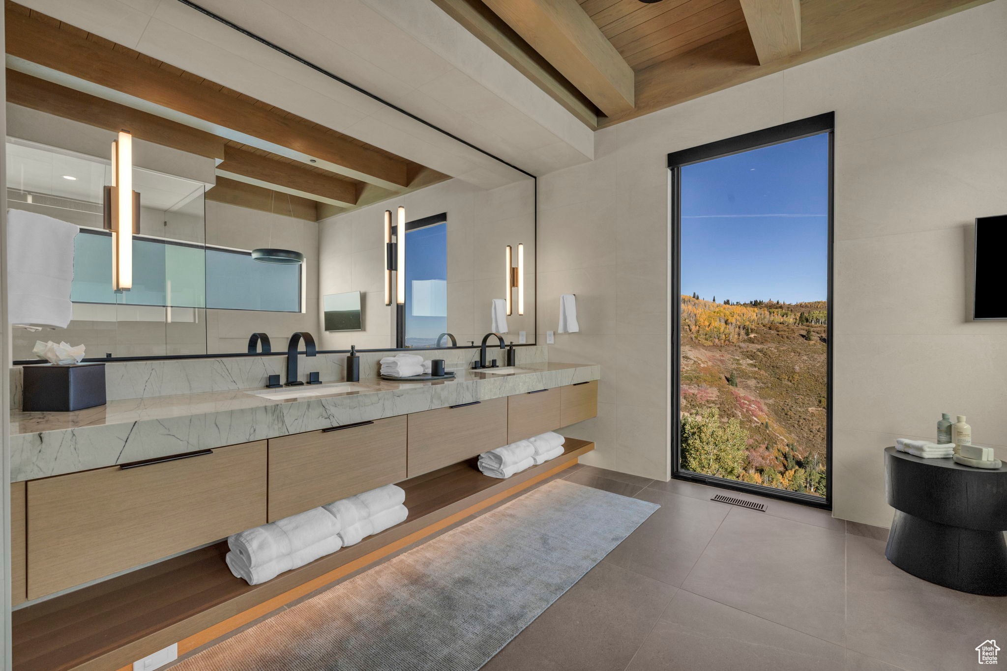
[{"label": "reflected wooden beam directly above the leftmost sconce in the mirror", "polygon": [[106,131],[128,129],[140,140],[196,156],[224,158],[224,138],[9,67],[7,102]]}]

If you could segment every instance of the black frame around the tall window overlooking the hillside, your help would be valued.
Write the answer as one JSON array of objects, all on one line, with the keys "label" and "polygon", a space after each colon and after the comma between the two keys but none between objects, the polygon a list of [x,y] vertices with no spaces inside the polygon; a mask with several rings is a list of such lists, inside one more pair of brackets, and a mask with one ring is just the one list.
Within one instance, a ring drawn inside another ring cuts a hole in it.
[{"label": "black frame around the tall window overlooking the hillside", "polygon": [[[672,361],[672,393],[671,393],[671,455],[672,455],[672,478],[696,482],[704,485],[720,487],[756,496],[781,499],[792,503],[824,508],[832,510],[833,506],[833,468],[832,468],[832,448],[833,448],[833,248],[834,239],[834,205],[835,205],[835,112],[809,117],[799,121],[780,124],[760,131],[745,133],[733,138],[711,142],[698,147],[692,147],[668,155],[668,170],[670,172],[670,197],[671,197],[671,227],[672,227],[672,253],[671,253],[671,293],[670,308],[672,311],[672,337],[671,351],[669,352]],[[789,492],[786,490],[755,485],[751,483],[708,476],[700,473],[693,473],[682,468],[682,168],[702,163],[712,159],[741,154],[753,149],[761,149],[772,145],[800,140],[813,135],[828,134],[829,136],[829,204],[828,204],[828,279],[826,292],[828,325],[826,327],[826,495],[825,497],[802,494],[800,492]]]}]

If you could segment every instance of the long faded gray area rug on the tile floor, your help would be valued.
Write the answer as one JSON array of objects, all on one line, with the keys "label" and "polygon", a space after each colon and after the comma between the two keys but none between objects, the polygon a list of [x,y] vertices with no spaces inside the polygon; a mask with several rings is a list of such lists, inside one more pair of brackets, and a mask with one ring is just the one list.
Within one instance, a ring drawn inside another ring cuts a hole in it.
[{"label": "long faded gray area rug on the tile floor", "polygon": [[659,507],[554,480],[172,671],[474,671]]}]

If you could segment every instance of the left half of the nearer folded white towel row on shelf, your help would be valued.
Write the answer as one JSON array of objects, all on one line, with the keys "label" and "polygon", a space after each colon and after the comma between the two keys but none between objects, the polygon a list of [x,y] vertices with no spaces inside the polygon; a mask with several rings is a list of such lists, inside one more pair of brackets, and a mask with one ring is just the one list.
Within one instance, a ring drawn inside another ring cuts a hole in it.
[{"label": "left half of the nearer folded white towel row on shelf", "polygon": [[231,572],[259,584],[303,566],[342,546],[339,525],[321,508],[257,526],[228,538]]}]

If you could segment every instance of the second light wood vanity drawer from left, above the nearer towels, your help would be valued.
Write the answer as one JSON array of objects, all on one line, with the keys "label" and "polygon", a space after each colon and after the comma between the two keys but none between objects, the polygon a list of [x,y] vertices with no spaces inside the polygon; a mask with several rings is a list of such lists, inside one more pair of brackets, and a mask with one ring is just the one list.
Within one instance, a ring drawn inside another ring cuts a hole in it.
[{"label": "second light wood vanity drawer from left, above the nearer towels", "polygon": [[406,479],[406,415],[269,441],[269,521]]}]

